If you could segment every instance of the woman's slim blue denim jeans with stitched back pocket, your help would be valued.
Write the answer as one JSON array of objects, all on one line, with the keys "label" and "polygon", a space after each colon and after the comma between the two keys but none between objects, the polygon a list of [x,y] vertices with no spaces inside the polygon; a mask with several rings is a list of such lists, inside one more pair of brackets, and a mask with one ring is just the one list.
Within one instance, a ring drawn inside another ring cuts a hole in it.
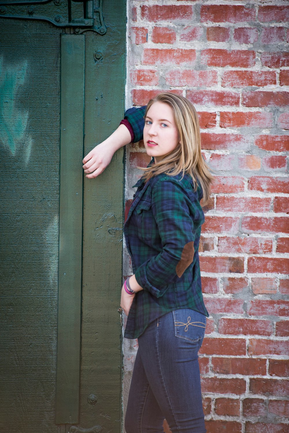
[{"label": "woman's slim blue denim jeans with stitched back pocket", "polygon": [[128,395],[126,433],[206,433],[198,350],[206,316],[175,310],[154,320],[138,338]]}]

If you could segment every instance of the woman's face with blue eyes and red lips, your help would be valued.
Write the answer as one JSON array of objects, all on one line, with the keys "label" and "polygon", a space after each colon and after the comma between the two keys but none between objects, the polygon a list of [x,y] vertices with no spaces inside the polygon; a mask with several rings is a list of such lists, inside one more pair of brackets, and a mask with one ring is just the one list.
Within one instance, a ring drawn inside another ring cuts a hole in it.
[{"label": "woman's face with blue eyes and red lips", "polygon": [[155,162],[179,145],[179,132],[173,118],[173,110],[164,102],[154,102],[148,110],[144,124],[144,147]]}]

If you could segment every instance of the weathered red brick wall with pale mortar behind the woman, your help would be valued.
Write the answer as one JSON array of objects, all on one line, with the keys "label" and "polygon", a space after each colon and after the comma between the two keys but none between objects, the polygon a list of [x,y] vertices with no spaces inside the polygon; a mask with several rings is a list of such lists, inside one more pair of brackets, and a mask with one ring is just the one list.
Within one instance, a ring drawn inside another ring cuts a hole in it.
[{"label": "weathered red brick wall with pale mortar behind the woman", "polygon": [[[210,312],[199,360],[208,433],[285,433],[289,3],[211,3],[128,0],[126,106],[163,90],[187,97],[215,170],[199,249]],[[131,145],[127,204],[148,160],[141,143]],[[126,346],[125,359],[134,350]]]}]

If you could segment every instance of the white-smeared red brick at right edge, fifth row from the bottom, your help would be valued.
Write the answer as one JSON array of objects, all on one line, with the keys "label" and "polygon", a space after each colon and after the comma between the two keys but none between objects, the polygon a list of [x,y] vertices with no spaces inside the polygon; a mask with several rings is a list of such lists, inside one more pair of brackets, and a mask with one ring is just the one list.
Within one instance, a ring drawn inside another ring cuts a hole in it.
[{"label": "white-smeared red brick at right edge, fifth row from the bottom", "polygon": [[[284,356],[288,354],[288,350],[289,350],[289,341],[276,341],[276,340],[260,339],[260,338],[249,339],[248,355],[283,355]],[[272,375],[273,373],[271,372],[270,374]]]}]

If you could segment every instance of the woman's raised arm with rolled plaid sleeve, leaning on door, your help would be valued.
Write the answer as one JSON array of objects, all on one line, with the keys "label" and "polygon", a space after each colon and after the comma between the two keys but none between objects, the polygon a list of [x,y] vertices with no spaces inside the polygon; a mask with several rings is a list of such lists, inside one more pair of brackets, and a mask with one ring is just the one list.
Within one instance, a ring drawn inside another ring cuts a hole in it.
[{"label": "woman's raised arm with rolled plaid sleeve, leaning on door", "polygon": [[125,112],[125,120],[106,140],[94,147],[83,158],[86,177],[96,178],[109,165],[113,154],[130,142],[142,139],[145,107],[130,108]]}]

